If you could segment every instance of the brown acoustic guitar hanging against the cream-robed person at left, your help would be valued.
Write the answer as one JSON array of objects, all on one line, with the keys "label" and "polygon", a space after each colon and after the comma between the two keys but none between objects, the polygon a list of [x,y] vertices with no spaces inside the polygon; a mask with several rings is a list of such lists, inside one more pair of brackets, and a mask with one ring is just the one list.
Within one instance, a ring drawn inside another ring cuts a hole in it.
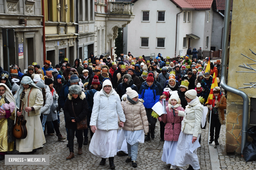
[{"label": "brown acoustic guitar hanging against the cream-robed person at left", "polygon": [[[25,92],[23,91],[20,96],[20,108],[19,112],[21,112],[22,99],[25,97]],[[24,116],[20,115],[16,118],[16,123],[12,128],[12,134],[15,139],[25,139],[28,135],[28,130],[26,127],[27,120],[24,120]]]}]

